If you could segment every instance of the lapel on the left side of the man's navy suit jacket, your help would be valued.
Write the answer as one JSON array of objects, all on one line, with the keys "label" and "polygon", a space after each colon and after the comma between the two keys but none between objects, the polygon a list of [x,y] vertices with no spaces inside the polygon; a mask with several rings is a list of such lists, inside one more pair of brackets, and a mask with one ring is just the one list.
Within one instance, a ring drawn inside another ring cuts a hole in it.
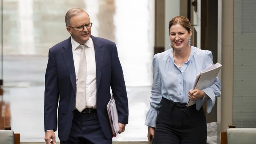
[{"label": "lapel on the left side of the man's navy suit jacket", "polygon": [[72,53],[71,37],[67,39],[67,44],[63,45],[64,50],[61,52],[67,69],[69,70],[69,78],[72,83],[74,92],[76,91],[76,72]]}]

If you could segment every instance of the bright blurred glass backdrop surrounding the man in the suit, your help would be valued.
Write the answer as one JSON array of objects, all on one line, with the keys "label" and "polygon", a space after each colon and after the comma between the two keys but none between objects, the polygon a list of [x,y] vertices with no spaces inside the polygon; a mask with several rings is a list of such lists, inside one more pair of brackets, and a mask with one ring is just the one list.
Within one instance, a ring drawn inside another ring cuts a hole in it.
[{"label": "bright blurred glass backdrop surrounding the man in the suit", "polygon": [[93,36],[117,44],[130,114],[126,133],[113,140],[147,140],[144,121],[152,84],[153,0],[4,0],[4,100],[10,102],[12,129],[22,133],[21,142],[44,141],[48,50],[70,37],[65,14],[72,7],[89,13]]}]

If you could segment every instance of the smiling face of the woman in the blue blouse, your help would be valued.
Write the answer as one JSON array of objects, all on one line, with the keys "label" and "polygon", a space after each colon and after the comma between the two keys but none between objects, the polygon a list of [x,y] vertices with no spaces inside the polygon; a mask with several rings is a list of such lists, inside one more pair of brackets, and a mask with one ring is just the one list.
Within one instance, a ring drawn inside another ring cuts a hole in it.
[{"label": "smiling face of the woman in the blue blouse", "polygon": [[190,33],[188,33],[188,31],[180,24],[175,24],[171,26],[169,36],[173,48],[176,50],[182,50],[184,48],[187,48],[188,39],[189,37],[191,37],[191,35],[192,30],[190,30]]}]

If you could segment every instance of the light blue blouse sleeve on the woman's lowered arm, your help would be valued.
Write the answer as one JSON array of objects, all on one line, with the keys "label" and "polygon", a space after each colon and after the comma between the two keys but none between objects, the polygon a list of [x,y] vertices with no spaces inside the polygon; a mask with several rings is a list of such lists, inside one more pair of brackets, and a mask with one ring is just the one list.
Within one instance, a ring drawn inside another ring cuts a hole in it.
[{"label": "light blue blouse sleeve on the woman's lowered arm", "polygon": [[158,54],[154,55],[153,59],[153,84],[152,84],[152,96],[150,96],[150,109],[147,112],[145,125],[155,127],[156,118],[160,108],[161,95],[161,79],[158,67]]}]

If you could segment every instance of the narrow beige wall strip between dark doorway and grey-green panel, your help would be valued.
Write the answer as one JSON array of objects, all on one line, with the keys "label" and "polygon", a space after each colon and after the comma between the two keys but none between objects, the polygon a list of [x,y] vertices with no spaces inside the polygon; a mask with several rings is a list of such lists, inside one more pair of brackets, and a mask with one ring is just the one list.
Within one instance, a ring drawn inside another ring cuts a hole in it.
[{"label": "narrow beige wall strip between dark doorway and grey-green panel", "polygon": [[[219,0],[218,49],[221,50],[221,97],[218,99],[218,144],[220,131],[226,131],[227,125],[233,122],[233,27],[234,0]],[[221,28],[220,28],[221,26]]]}]

